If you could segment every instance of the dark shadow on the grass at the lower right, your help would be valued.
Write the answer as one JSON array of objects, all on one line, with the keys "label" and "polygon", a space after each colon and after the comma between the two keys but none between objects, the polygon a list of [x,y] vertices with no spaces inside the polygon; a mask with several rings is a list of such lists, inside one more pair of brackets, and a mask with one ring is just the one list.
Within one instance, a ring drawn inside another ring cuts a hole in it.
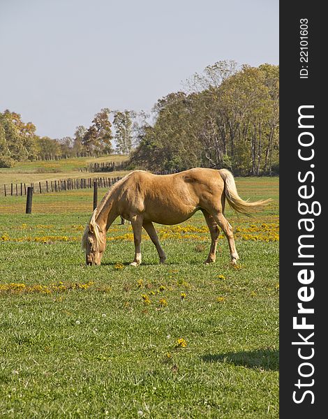
[{"label": "dark shadow on the grass at the lower right", "polygon": [[247,368],[265,369],[266,371],[278,371],[279,369],[279,351],[269,348],[258,349],[257,351],[204,355],[201,358],[204,362],[227,362],[228,364],[241,365]]}]

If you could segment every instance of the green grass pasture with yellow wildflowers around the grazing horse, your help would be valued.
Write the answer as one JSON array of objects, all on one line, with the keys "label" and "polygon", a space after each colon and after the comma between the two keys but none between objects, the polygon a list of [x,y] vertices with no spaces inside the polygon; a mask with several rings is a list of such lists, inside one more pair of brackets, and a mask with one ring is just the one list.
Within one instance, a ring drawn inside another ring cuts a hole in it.
[{"label": "green grass pasture with yellow wildflowers around the grazing horse", "polygon": [[[202,214],[156,226],[167,263],[131,226],[107,234],[99,267],[80,239],[92,191],[0,202],[0,416],[278,418],[278,178],[237,178],[274,198],[248,219],[227,209],[240,261],[221,235],[203,265]],[[105,193],[100,190],[99,197]]]}]

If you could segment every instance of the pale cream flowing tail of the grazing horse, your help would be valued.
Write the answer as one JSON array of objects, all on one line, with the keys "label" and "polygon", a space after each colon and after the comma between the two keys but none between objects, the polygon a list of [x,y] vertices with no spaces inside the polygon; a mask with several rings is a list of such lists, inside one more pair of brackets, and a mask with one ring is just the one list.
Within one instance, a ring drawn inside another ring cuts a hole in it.
[{"label": "pale cream flowing tail of the grazing horse", "polygon": [[225,184],[225,198],[227,198],[228,203],[230,207],[232,207],[232,210],[240,212],[241,214],[245,214],[247,216],[251,216],[252,212],[258,212],[263,210],[265,205],[268,205],[271,201],[270,199],[265,200],[258,200],[253,203],[248,202],[241,199],[238,195],[236,184],[234,182],[234,177],[232,173],[227,169],[220,169],[218,170],[220,172],[220,175],[223,179],[223,182]]}]

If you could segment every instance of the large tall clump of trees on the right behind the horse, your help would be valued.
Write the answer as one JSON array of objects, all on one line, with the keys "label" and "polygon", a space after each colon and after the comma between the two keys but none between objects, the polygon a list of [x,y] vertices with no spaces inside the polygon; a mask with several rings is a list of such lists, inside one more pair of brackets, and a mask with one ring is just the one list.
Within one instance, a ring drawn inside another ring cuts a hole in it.
[{"label": "large tall clump of trees on the right behind the horse", "polygon": [[228,168],[235,175],[278,173],[278,66],[218,61],[154,107],[131,166],[149,170]]}]

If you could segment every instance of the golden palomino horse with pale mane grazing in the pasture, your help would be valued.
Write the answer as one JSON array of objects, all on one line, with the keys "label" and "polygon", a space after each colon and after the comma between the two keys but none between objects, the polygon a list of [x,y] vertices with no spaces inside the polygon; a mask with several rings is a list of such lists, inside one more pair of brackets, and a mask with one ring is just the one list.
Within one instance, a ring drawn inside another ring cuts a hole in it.
[{"label": "golden palomino horse with pale mane grazing in the pasture", "polygon": [[117,216],[131,221],[135,242],[135,258],[131,265],[141,263],[141,232],[147,231],[158,251],[160,262],[165,253],[158,241],[154,223],[172,225],[188,220],[196,211],[204,214],[211,234],[211,247],[205,263],[215,262],[219,227],[228,239],[232,263],[239,259],[232,227],[225,219],[225,198],[230,207],[242,214],[262,210],[270,200],[254,203],[242,200],[229,170],[194,168],[174,175],[153,175],[135,170],[119,180],[106,193],[94,210],[82,237],[87,265],[100,265],[105,251],[106,231]]}]

